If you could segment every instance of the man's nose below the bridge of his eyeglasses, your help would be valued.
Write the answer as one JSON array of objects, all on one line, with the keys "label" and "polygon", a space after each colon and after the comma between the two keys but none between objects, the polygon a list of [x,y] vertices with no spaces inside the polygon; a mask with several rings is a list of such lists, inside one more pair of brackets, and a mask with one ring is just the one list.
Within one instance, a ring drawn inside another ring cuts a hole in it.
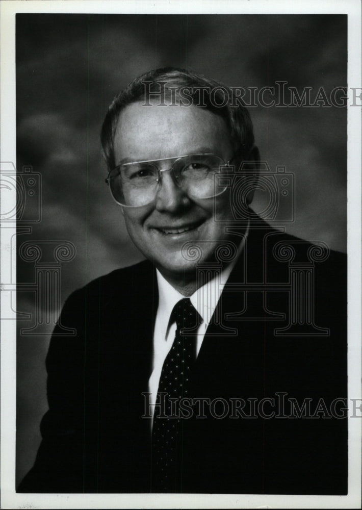
[{"label": "man's nose below the bridge of his eyeglasses", "polygon": [[156,194],[155,208],[159,212],[177,213],[189,203],[185,191],[176,185],[171,171],[161,172],[161,183]]}]

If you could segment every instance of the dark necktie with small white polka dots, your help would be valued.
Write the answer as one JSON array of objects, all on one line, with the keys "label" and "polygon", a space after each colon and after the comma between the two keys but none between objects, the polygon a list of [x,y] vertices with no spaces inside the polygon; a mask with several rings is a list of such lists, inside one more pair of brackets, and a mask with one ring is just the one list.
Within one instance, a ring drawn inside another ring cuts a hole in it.
[{"label": "dark necktie with small white polka dots", "polygon": [[172,347],[162,367],[152,428],[152,492],[182,492],[183,419],[179,400],[188,397],[196,361],[196,331],[202,322],[189,298],[172,310],[176,322]]}]

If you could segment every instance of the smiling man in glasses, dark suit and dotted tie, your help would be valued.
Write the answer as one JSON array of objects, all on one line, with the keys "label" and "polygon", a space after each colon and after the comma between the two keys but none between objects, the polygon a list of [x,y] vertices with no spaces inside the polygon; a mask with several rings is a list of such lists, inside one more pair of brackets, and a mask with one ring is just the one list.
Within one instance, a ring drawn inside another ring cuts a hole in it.
[{"label": "smiling man in glasses, dark suit and dotted tie", "polygon": [[106,181],[147,260],[66,301],[20,492],[346,494],[345,260],[249,209],[231,101],[172,68],[113,101]]}]

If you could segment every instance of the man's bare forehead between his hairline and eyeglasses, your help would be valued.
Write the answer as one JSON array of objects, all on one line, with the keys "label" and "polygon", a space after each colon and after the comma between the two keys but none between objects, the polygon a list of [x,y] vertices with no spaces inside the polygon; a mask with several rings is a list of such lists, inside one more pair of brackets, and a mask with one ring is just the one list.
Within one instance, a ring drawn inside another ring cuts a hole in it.
[{"label": "man's bare forehead between his hairline and eyeglasses", "polygon": [[151,160],[195,152],[229,157],[225,120],[196,106],[128,105],[120,113],[114,137],[116,164],[123,159]]}]

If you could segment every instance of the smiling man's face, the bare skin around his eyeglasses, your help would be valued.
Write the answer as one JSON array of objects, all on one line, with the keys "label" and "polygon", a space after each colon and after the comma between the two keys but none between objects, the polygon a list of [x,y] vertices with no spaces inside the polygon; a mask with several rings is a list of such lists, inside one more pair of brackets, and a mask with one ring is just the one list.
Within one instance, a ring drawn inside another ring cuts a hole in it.
[{"label": "smiling man's face, the bare skin around his eyeglasses", "polygon": [[[124,159],[162,160],[202,152],[212,152],[224,161],[233,156],[225,121],[195,106],[128,105],[120,114],[114,148],[116,164]],[[170,162],[160,162],[159,168],[170,168]],[[214,200],[222,222],[214,221]],[[198,262],[210,261],[215,241],[227,238],[225,221],[232,220],[228,190],[214,198],[190,198],[176,186],[171,172],[162,173],[162,186],[151,204],[124,207],[123,214],[135,245],[171,280],[195,273],[197,262],[182,254],[186,242],[200,246]]]}]

